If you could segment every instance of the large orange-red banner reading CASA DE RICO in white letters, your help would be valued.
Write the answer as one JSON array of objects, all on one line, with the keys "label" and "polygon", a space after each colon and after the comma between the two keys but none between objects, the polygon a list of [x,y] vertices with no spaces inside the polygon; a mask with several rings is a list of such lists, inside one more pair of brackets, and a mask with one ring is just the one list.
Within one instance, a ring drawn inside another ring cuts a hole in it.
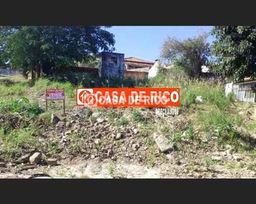
[{"label": "large orange-red banner reading CASA DE RICO in white letters", "polygon": [[76,88],[81,107],[180,106],[180,88]]}]

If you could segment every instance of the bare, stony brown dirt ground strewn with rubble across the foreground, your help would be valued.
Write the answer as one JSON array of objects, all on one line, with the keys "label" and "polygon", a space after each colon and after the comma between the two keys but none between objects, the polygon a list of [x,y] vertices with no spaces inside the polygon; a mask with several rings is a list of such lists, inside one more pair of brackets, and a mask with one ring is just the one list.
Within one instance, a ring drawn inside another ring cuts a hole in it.
[{"label": "bare, stony brown dirt ground strewn with rubble across the foreground", "polygon": [[[33,92],[33,87],[29,92],[30,95],[27,97],[29,99],[36,97],[40,105],[44,107],[44,93]],[[63,147],[63,152],[57,156],[57,165],[36,165],[34,169],[19,171],[18,169],[23,165],[8,162],[5,164],[6,167],[0,166],[0,178],[29,178],[33,175],[45,178],[85,179],[256,177],[254,152],[236,151],[236,147],[227,145],[217,147],[214,143],[208,145],[203,139],[200,141],[200,147],[198,141],[184,139],[180,141],[181,150],[162,153],[156,143],[151,144],[150,148],[147,146],[147,139],[152,135],[139,136],[139,133],[143,131],[143,126],[134,124],[133,127],[126,126],[119,129],[111,124],[109,113],[104,110],[94,120],[91,120],[84,117],[87,114],[85,109],[75,107],[74,100],[66,101],[66,103],[66,116],[62,115],[61,108],[55,111],[61,120],[58,124],[53,126],[40,124],[42,125],[40,129],[44,129],[44,135],[40,140],[42,142],[55,141]],[[248,120],[256,121],[255,105],[240,105],[236,108]],[[51,110],[51,107],[49,109]],[[180,129],[182,126],[186,127],[186,120],[191,117],[182,114],[163,119],[149,109],[141,112],[156,124],[179,125]],[[248,112],[249,116],[247,116]],[[119,114],[129,118],[130,109],[123,109]],[[98,122],[100,121],[98,119],[102,121]],[[162,120],[165,123],[160,123]],[[173,121],[177,124],[173,124]],[[134,133],[134,129],[138,129],[139,133]],[[83,139],[84,154],[70,156],[69,152],[66,152],[66,147],[72,143],[70,141],[71,131]],[[122,133],[122,139],[115,139],[117,133]]]}]

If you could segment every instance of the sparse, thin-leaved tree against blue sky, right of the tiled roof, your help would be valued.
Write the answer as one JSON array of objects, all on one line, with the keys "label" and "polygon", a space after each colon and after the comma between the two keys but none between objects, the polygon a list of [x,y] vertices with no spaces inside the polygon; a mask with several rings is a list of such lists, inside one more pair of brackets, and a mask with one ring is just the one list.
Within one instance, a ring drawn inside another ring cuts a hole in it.
[{"label": "sparse, thin-leaved tree against blue sky, right of the tiled roof", "polygon": [[167,37],[160,56],[166,63],[175,63],[191,77],[198,78],[201,74],[201,66],[205,65],[210,55],[207,37],[206,33],[184,40]]}]

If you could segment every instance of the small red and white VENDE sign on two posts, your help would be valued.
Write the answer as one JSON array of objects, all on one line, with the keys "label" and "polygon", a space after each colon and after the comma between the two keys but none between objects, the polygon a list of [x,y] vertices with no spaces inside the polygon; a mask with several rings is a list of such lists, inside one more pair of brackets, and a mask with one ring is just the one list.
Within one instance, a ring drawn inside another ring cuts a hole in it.
[{"label": "small red and white VENDE sign on two posts", "polygon": [[46,111],[47,101],[63,101],[63,114],[65,114],[65,92],[64,88],[46,88],[45,92],[45,99],[46,99]]}]

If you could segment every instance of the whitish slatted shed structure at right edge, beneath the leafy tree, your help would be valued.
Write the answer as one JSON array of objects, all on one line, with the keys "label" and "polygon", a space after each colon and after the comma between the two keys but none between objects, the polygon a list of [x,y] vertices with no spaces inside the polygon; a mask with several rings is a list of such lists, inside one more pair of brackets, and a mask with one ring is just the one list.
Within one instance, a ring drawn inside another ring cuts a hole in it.
[{"label": "whitish slatted shed structure at right edge, beneath the leafy tree", "polygon": [[256,102],[256,80],[245,78],[244,82],[228,83],[225,87],[225,95],[233,92],[236,99],[243,102]]}]

